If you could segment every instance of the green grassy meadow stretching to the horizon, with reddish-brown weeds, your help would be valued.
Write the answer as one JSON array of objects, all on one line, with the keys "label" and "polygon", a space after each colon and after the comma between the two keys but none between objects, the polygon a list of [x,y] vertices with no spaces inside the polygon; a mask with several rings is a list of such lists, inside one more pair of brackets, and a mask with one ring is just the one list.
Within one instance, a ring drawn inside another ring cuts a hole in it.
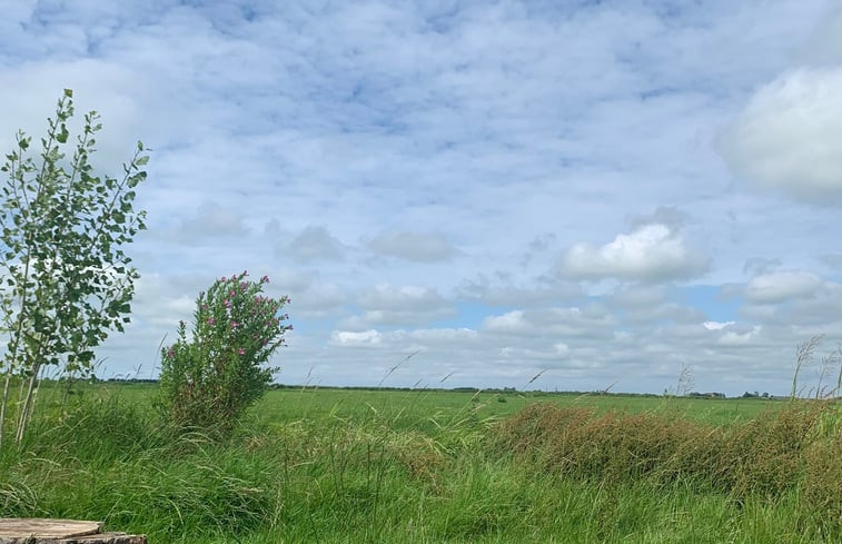
[{"label": "green grassy meadow stretching to the horizon, with reddish-brown weeds", "polygon": [[0,515],[160,543],[838,543],[832,402],[270,390],[174,435],[155,385],[44,387]]}]

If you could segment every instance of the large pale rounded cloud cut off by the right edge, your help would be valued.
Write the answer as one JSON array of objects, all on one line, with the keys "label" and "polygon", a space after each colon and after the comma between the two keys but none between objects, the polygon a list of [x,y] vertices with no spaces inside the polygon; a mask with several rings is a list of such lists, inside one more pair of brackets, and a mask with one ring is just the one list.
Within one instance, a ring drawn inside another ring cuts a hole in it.
[{"label": "large pale rounded cloud cut off by the right edge", "polygon": [[759,89],[722,136],[731,170],[760,187],[842,198],[842,68],[799,68]]}]

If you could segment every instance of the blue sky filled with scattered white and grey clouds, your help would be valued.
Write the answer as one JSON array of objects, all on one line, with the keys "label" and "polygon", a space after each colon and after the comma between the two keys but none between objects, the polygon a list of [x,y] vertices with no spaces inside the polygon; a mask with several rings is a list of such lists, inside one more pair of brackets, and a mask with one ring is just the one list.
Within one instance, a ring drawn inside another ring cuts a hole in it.
[{"label": "blue sky filled with scattered white and grey clouds", "polygon": [[838,0],[0,12],[3,154],[65,88],[99,170],[153,149],[100,377],[242,270],[291,299],[285,384],[787,394],[842,340]]}]

